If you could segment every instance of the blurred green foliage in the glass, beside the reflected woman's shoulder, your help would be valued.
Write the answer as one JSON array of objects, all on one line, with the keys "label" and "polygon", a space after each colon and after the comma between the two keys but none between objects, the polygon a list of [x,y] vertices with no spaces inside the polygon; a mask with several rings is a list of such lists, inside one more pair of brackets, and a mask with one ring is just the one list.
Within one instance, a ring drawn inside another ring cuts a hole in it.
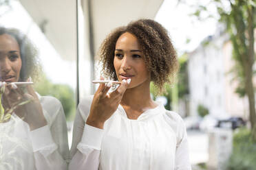
[{"label": "blurred green foliage in the glass, beside the reflected woman's shoulder", "polygon": [[45,75],[41,75],[34,88],[40,95],[50,95],[61,101],[65,117],[72,119],[72,115],[74,115],[76,110],[76,104],[74,90],[70,86],[66,84],[53,84]]}]

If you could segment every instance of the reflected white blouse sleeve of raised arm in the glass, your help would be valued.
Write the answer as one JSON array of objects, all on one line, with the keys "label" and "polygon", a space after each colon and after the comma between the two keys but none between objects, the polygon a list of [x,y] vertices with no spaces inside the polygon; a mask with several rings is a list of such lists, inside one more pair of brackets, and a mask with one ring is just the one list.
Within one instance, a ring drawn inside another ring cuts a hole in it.
[{"label": "reflected white blouse sleeve of raised arm in the glass", "polygon": [[[56,101],[56,99],[54,99]],[[67,143],[67,125],[61,103],[54,102],[56,111],[50,113],[43,106],[43,112],[48,125],[30,132],[36,170],[67,169],[69,149]],[[49,114],[47,114],[49,112]],[[47,117],[48,116],[48,117]],[[49,119],[49,117],[51,117]]]}]

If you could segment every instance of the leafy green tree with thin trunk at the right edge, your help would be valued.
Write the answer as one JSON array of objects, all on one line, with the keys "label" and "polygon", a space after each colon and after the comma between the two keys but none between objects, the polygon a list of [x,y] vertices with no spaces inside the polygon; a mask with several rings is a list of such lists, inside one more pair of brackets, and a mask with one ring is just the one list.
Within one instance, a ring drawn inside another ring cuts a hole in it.
[{"label": "leafy green tree with thin trunk at the right edge", "polygon": [[[254,30],[256,26],[255,0],[211,0],[218,14],[220,22],[226,24],[233,45],[233,59],[235,67],[233,73],[239,82],[236,92],[240,96],[248,97],[250,125],[253,130],[253,140],[256,141],[256,112],[255,91],[253,87],[253,64],[255,62]],[[209,11],[200,8],[194,13],[200,18],[200,12]],[[212,16],[211,14],[209,16]]]}]

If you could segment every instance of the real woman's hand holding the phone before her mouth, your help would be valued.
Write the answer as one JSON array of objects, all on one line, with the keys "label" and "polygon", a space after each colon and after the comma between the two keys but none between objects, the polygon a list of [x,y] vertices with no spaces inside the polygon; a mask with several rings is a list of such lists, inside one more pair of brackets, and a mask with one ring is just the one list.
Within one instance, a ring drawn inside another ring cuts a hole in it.
[{"label": "real woman's hand holding the phone before her mouth", "polygon": [[111,83],[107,85],[100,84],[94,94],[86,124],[103,129],[105,121],[107,121],[118,108],[122,100],[122,95],[124,95],[130,81],[131,80],[123,80],[120,86],[110,94],[107,94],[107,92],[109,88],[111,88]]}]

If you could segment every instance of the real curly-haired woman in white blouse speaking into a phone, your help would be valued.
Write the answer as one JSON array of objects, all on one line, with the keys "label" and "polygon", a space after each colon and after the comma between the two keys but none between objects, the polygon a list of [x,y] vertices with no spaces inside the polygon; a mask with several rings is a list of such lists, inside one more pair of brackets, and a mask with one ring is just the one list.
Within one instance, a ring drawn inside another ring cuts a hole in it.
[{"label": "real curly-haired woman in white blouse speaking into a phone", "polygon": [[103,73],[122,82],[100,84],[78,105],[70,169],[191,169],[181,117],[150,97],[178,70],[167,30],[141,19],[119,27],[100,49]]}]

